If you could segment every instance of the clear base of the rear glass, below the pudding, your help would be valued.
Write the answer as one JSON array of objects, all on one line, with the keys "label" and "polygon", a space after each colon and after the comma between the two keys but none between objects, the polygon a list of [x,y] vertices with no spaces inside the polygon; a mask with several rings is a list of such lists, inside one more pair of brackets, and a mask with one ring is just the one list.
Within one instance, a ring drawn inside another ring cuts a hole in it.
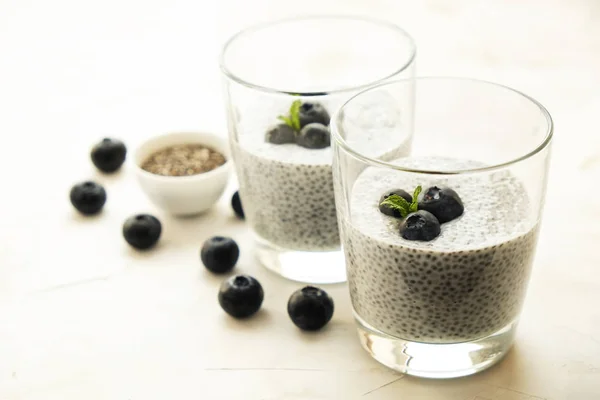
[{"label": "clear base of the rear glass, below the pudding", "polygon": [[346,282],[344,253],[290,250],[256,238],[256,256],[267,269],[284,278],[313,284]]}]

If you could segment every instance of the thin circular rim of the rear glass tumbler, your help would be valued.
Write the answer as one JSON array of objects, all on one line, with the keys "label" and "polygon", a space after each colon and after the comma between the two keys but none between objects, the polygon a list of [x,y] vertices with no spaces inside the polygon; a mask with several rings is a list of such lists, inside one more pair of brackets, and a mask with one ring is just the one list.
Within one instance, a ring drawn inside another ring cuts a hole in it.
[{"label": "thin circular rim of the rear glass tumbler", "polygon": [[[236,75],[235,73],[233,73],[233,71],[227,67],[227,63],[225,62],[225,57],[226,57],[226,54],[227,54],[229,48],[238,39],[242,38],[243,36],[246,36],[247,34],[250,34],[253,32],[260,31],[265,28],[271,28],[271,27],[274,27],[277,25],[283,25],[283,24],[287,24],[290,22],[310,21],[310,20],[313,20],[313,21],[319,21],[319,20],[359,21],[359,22],[368,22],[368,23],[371,23],[374,25],[390,28],[392,30],[395,30],[396,33],[399,33],[402,36],[404,36],[406,39],[408,39],[408,42],[410,45],[409,57],[407,58],[407,60],[404,64],[402,64],[398,68],[394,69],[394,71],[392,73],[390,73],[384,77],[381,77],[381,78],[378,78],[373,81],[363,83],[360,85],[352,86],[352,87],[328,90],[327,92],[302,92],[302,91],[292,92],[292,91],[286,91],[286,90],[279,90],[279,89],[275,89],[272,87],[249,82],[249,81],[241,78],[240,76]],[[323,15],[313,15],[313,16],[281,18],[281,19],[277,19],[277,20],[273,20],[273,21],[255,24],[255,25],[249,26],[247,28],[244,28],[244,29],[238,31],[233,36],[231,36],[223,45],[221,53],[219,55],[219,67],[220,67],[223,75],[225,75],[227,78],[231,79],[232,81],[237,82],[240,85],[246,86],[248,88],[259,90],[261,92],[274,93],[274,94],[285,94],[285,95],[295,95],[295,96],[319,96],[319,95],[325,95],[325,94],[330,95],[330,94],[338,94],[338,93],[345,93],[345,92],[350,92],[350,91],[363,90],[363,89],[372,87],[373,85],[377,85],[378,83],[384,82],[385,80],[388,80],[391,77],[398,75],[398,74],[402,73],[403,71],[405,71],[406,69],[408,69],[414,63],[416,55],[417,55],[417,46],[415,44],[415,40],[413,39],[413,37],[407,31],[402,29],[399,25],[394,24],[393,22],[389,22],[389,21],[377,19],[377,18],[359,17],[359,16],[352,16],[352,15],[323,14]]]}]

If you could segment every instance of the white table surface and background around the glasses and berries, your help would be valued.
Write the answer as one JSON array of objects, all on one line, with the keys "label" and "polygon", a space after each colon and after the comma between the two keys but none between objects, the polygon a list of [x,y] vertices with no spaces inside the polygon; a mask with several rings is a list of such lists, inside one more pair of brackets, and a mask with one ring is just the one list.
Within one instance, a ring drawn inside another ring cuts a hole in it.
[{"label": "white table surface and background around the glasses and berries", "polygon": [[[218,4],[218,6],[217,6]],[[218,9],[216,8],[218,7]],[[100,176],[89,146],[130,147],[176,129],[225,134],[216,56],[234,30],[272,17],[345,12],[393,20],[418,41],[421,75],[514,86],[556,123],[535,271],[514,349],[480,375],[405,377],[360,348],[346,288],[327,329],[303,334],[285,304],[301,285],[259,267],[228,198],[208,215],[153,208],[129,166]],[[0,0],[0,400],[600,399],[600,3],[596,0]],[[94,178],[108,203],[77,216],[70,186]],[[137,253],[121,224],[164,224]],[[239,241],[237,271],[264,309],[228,318],[205,238]]]}]

